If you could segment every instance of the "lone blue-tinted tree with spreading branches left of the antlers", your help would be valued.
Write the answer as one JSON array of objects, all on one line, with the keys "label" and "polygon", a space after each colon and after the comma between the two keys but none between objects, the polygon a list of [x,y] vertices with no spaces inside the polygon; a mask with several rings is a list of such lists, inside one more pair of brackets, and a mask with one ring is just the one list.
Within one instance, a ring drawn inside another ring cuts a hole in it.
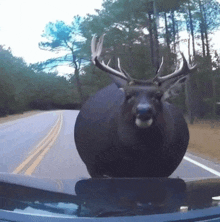
[{"label": "lone blue-tinted tree with spreading branches left of the antlers", "polygon": [[[82,18],[75,16],[71,25],[65,24],[63,21],[48,23],[45,27],[42,37],[45,41],[39,43],[40,49],[52,52],[62,53],[62,56],[49,59],[45,62],[32,66],[35,69],[53,69],[57,66],[67,65],[74,68],[74,78],[76,79],[76,87],[79,93],[80,101],[83,101],[83,92],[80,83],[80,68],[82,60],[86,60],[81,48],[85,41],[81,34]],[[72,80],[73,78],[71,78]]]}]

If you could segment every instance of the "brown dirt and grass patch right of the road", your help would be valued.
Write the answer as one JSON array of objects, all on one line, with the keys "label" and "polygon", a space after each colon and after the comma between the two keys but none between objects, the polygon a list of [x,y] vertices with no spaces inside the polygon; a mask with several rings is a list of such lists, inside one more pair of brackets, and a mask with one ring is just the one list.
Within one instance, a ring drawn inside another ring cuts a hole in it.
[{"label": "brown dirt and grass patch right of the road", "polygon": [[220,163],[220,123],[198,121],[188,125],[190,142],[188,151]]}]

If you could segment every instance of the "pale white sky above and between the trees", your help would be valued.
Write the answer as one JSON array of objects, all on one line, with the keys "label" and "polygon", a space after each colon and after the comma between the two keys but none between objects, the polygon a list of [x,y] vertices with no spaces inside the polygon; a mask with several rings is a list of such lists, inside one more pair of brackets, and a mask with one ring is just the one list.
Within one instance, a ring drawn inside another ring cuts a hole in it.
[{"label": "pale white sky above and between the trees", "polygon": [[[70,24],[75,15],[94,14],[94,9],[101,8],[102,1],[0,0],[0,45],[10,47],[12,54],[23,57],[27,64],[56,57],[54,53],[38,47],[46,24],[56,20]],[[219,35],[220,32],[213,38],[218,50]],[[59,68],[57,71],[68,73],[72,72],[72,68]]]}]

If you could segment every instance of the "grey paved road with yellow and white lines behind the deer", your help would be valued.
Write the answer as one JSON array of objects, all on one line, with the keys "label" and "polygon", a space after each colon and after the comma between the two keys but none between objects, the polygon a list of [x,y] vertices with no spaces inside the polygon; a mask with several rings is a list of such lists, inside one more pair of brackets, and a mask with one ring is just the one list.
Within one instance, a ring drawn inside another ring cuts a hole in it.
[{"label": "grey paved road with yellow and white lines behind the deer", "polygon": [[[53,179],[88,178],[74,143],[77,115],[78,111],[48,111],[0,124],[0,172]],[[220,177],[220,165],[187,153],[171,177]]]}]

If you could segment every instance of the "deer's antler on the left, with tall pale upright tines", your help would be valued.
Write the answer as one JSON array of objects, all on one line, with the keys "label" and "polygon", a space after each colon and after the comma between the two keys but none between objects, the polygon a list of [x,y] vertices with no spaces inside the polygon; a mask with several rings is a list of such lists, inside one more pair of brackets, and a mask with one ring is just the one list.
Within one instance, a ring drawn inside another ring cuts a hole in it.
[{"label": "deer's antler on the left, with tall pale upright tines", "polygon": [[101,55],[101,52],[102,52],[104,36],[105,36],[105,34],[103,34],[99,38],[97,45],[96,45],[96,36],[93,36],[93,38],[92,38],[92,41],[91,41],[92,62],[94,63],[94,65],[96,65],[102,71],[108,72],[112,75],[115,75],[121,79],[124,79],[124,80],[130,82],[132,80],[132,78],[121,68],[121,64],[120,64],[119,59],[118,59],[118,68],[119,68],[120,72],[108,66],[110,63],[110,60],[107,65],[103,61],[102,62],[99,61],[99,56]]}]

